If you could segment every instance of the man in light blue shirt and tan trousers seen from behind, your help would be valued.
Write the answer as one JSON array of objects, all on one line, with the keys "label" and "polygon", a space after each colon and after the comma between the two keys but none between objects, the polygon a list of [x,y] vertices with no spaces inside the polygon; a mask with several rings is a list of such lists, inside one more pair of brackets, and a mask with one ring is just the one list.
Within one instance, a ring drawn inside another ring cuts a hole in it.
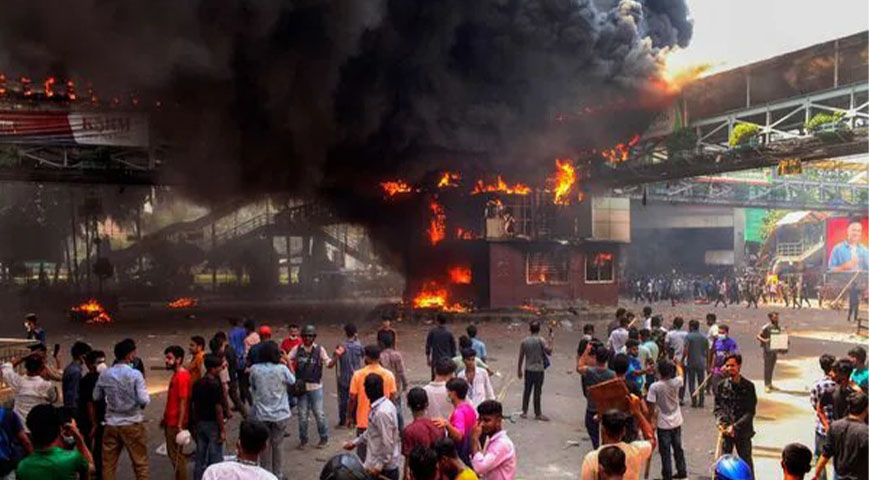
[{"label": "man in light blue shirt and tan trousers seen from behind", "polygon": [[103,434],[103,480],[115,480],[121,450],[133,463],[136,480],[148,478],[148,437],[145,407],[150,401],[145,377],[130,366],[136,358],[136,342],[127,338],[115,345],[115,364],[100,374],[94,400],[106,401]]}]

